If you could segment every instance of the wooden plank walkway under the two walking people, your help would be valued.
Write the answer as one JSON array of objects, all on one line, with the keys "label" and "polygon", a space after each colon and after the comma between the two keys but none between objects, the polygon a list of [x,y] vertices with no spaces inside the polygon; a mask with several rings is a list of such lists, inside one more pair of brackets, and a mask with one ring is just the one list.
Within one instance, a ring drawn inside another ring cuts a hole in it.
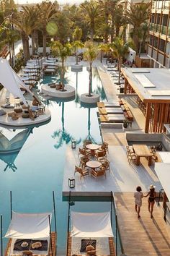
[{"label": "wooden plank walkway under the two walking people", "polygon": [[122,246],[127,256],[170,255],[170,236],[161,209],[154,205],[153,219],[148,199],[143,198],[140,219],[134,209],[133,192],[115,193]]}]

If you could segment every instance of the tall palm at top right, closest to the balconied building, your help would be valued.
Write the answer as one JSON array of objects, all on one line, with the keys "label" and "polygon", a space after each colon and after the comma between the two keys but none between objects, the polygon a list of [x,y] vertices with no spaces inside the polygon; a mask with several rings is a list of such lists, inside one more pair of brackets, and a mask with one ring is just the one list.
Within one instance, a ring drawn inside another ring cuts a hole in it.
[{"label": "tall palm at top right, closest to the balconied building", "polygon": [[139,51],[138,30],[140,26],[149,19],[151,2],[139,4],[130,4],[130,9],[126,10],[128,22],[133,25],[133,41],[135,43],[135,50]]}]

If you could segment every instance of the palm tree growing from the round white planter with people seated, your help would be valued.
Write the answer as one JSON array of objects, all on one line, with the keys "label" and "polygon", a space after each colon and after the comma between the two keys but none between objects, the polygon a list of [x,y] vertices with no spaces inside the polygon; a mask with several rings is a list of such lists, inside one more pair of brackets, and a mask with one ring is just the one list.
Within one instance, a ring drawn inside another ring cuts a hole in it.
[{"label": "palm tree growing from the round white planter with people seated", "polygon": [[71,55],[71,44],[66,43],[64,46],[59,42],[55,41],[52,44],[52,51],[54,54],[57,54],[57,56],[61,57],[61,83],[62,83],[62,90],[64,90],[64,62],[68,58],[68,56]]}]

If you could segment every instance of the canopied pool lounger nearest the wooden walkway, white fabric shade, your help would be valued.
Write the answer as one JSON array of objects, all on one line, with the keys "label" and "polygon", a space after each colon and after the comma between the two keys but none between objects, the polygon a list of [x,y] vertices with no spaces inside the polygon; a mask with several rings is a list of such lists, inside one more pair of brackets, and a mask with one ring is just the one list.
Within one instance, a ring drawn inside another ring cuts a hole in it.
[{"label": "canopied pool lounger nearest the wooden walkway, white fabric shade", "polygon": [[[81,254],[84,240],[96,241],[95,255],[113,256],[113,233],[110,213],[77,213],[71,212],[71,239],[68,244],[68,255]],[[112,245],[111,245],[112,244]],[[71,249],[71,254],[69,252]]]}]

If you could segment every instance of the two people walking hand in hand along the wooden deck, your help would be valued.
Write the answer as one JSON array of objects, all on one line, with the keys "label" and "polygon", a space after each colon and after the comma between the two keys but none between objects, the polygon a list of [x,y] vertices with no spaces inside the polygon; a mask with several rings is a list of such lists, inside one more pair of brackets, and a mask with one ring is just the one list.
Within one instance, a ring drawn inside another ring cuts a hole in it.
[{"label": "two people walking hand in hand along the wooden deck", "polygon": [[136,192],[134,193],[135,211],[138,213],[138,218],[140,218],[140,207],[142,206],[143,197],[148,197],[148,211],[151,213],[151,218],[153,218],[153,206],[156,198],[155,186],[151,185],[149,189],[150,190],[147,195],[143,195],[141,187],[138,186],[136,188]]}]

